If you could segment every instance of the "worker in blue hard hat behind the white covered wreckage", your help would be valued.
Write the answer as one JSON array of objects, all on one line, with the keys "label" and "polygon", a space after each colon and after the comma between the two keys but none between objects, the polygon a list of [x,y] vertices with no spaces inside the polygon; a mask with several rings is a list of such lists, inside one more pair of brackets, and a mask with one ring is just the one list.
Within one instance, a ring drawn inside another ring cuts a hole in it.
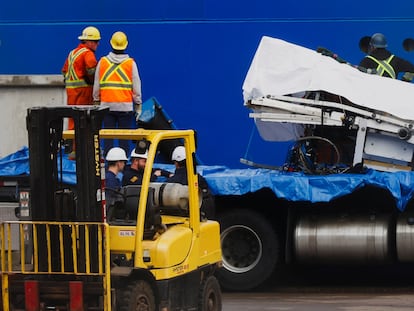
[{"label": "worker in blue hard hat behind the white covered wreckage", "polygon": [[372,35],[369,42],[369,54],[359,63],[365,69],[374,69],[376,73],[383,77],[398,79],[400,73],[404,73],[402,80],[411,81],[414,77],[414,65],[402,59],[387,48],[387,39],[382,33]]}]

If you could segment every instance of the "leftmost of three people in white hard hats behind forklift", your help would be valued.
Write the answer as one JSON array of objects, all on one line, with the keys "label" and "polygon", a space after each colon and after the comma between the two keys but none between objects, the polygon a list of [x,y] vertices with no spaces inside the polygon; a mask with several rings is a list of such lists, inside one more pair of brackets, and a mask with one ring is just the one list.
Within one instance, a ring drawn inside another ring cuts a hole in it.
[{"label": "leftmost of three people in white hard hats behind forklift", "polygon": [[120,194],[117,192],[122,184],[117,175],[124,170],[128,158],[126,157],[124,149],[114,147],[108,151],[105,159],[108,165],[105,172],[105,199],[107,205],[110,206],[120,197]]}]

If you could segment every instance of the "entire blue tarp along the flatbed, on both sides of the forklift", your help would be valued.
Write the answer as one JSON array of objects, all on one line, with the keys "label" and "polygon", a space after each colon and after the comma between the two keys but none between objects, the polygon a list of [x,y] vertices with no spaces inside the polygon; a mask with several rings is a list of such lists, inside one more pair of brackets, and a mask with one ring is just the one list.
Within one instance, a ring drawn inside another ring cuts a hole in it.
[{"label": "entire blue tarp along the flatbed, on both sides of the forklift", "polygon": [[[172,165],[155,165],[174,170]],[[328,202],[364,186],[388,189],[396,206],[404,210],[414,192],[414,172],[379,172],[364,174],[306,175],[268,169],[229,169],[224,166],[199,166],[216,195],[242,195],[270,188],[279,198],[290,201]],[[29,152],[23,148],[0,159],[0,176],[29,174]],[[63,157],[63,182],[76,183],[75,162]]]}]

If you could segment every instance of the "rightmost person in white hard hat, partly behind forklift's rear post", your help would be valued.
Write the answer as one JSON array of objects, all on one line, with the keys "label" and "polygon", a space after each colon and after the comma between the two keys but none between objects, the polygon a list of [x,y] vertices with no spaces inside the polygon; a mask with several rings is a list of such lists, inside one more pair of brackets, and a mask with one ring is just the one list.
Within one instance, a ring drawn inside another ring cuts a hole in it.
[{"label": "rightmost person in white hard hat, partly behind forklift's rear post", "polygon": [[[167,179],[167,182],[188,185],[187,168],[185,163],[186,155],[184,146],[178,146],[174,149],[171,156],[171,160],[174,162],[175,172],[174,175]],[[214,219],[215,203],[213,194],[211,193],[206,179],[200,174],[197,174],[197,176],[198,187],[201,190],[203,200],[201,203],[200,210],[207,219]]]}]

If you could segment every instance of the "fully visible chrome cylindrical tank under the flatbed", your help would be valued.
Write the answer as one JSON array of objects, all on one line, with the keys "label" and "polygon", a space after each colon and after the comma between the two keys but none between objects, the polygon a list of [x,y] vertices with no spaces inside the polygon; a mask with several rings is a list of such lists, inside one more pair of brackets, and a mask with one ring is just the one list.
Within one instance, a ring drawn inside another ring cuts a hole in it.
[{"label": "fully visible chrome cylindrical tank under the flatbed", "polygon": [[388,215],[305,215],[294,230],[294,255],[303,263],[380,263],[390,257]]}]

